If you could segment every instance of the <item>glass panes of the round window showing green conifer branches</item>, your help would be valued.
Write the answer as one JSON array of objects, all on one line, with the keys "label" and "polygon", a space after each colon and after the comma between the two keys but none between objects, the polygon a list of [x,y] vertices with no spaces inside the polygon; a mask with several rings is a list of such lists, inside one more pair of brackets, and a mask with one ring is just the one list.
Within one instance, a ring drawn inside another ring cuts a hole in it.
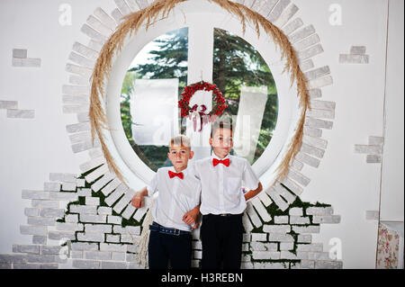
[{"label": "glass panes of the round window showing green conifer branches", "polygon": [[[212,55],[207,60],[212,61],[212,82],[227,100],[226,113],[235,119],[231,153],[253,165],[275,130],[275,79],[265,59],[247,40],[224,29],[211,31]],[[126,138],[153,171],[171,166],[168,141],[187,129],[177,101],[187,85],[189,39],[189,29],[184,27],[150,41],[131,62],[121,86],[121,122]]]}]

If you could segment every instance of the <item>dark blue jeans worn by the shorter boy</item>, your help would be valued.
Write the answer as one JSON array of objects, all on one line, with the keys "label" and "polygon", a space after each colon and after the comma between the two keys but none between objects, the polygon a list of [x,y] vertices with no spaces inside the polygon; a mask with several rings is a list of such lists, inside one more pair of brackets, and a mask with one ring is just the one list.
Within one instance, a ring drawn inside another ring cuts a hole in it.
[{"label": "dark blue jeans worn by the shorter boy", "polygon": [[189,269],[192,259],[192,235],[171,235],[150,230],[148,243],[149,269]]}]

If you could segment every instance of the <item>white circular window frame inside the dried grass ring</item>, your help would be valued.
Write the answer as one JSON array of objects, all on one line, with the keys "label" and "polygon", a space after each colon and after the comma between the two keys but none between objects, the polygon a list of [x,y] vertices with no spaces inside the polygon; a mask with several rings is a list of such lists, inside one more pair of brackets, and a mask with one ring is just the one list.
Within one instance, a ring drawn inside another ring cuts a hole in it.
[{"label": "white circular window frame inside the dried grass ring", "polygon": [[261,157],[252,166],[265,190],[266,187],[275,184],[275,169],[284,159],[301,114],[296,85],[291,86],[290,75],[287,72],[282,74],[286,60],[281,59],[280,48],[278,50],[275,48],[275,42],[265,31],[262,30],[258,38],[254,27],[247,24],[246,32],[243,34],[240,20],[218,5],[207,2],[196,7],[195,3],[184,2],[178,4],[166,19],[150,26],[148,31],[141,28],[137,34],[127,36],[119,55],[112,58],[112,70],[106,85],[106,101],[103,106],[110,130],[103,130],[103,136],[121,174],[133,189],[148,184],[155,173],[133,151],[122,127],[121,86],[128,67],[149,41],[168,31],[201,24],[207,18],[210,18],[212,27],[230,31],[255,47],[275,78],[279,106],[274,134]]}]

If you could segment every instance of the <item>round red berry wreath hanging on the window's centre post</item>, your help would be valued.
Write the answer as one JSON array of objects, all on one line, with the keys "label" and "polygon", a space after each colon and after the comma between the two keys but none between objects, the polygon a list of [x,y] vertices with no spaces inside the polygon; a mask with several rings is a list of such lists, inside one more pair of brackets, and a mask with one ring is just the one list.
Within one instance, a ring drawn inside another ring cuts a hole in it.
[{"label": "round red berry wreath hanging on the window's centre post", "polygon": [[[182,93],[183,97],[180,101],[178,101],[178,107],[182,109],[181,112],[182,117],[186,117],[190,114],[190,112],[196,111],[198,105],[194,104],[194,106],[191,107],[189,103],[190,99],[193,97],[193,94],[195,94],[195,92],[197,91],[207,91],[207,92],[212,91],[212,94],[215,94],[214,100],[216,103],[214,104],[214,107],[212,108],[211,112],[207,114],[210,118],[212,116],[219,116],[228,107],[225,98],[223,97],[223,94],[220,93],[220,90],[218,89],[217,85],[201,81],[193,85],[187,85],[184,87],[184,92]],[[202,112],[206,110],[206,107],[203,104],[202,110],[203,110]]]}]

